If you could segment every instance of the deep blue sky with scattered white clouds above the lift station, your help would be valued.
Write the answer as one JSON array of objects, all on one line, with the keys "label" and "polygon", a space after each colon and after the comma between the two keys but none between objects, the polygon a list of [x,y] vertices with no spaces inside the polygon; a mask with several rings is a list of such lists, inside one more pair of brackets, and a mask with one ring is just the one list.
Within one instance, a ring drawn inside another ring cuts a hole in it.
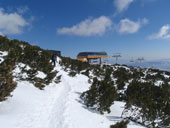
[{"label": "deep blue sky with scattered white clouds above the lift station", "polygon": [[170,58],[170,0],[0,0],[0,34],[61,50]]}]

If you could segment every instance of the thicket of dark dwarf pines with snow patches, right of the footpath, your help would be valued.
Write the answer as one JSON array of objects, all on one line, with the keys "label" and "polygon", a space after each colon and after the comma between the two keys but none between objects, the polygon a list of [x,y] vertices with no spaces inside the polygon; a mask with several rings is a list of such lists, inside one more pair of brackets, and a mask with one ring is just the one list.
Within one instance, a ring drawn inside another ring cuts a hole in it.
[{"label": "thicket of dark dwarf pines with snow patches, right of the footpath", "polygon": [[109,87],[115,87],[118,98],[114,100],[126,102],[122,117],[151,128],[169,127],[169,72],[121,65],[96,66],[88,72],[93,74],[88,75],[92,85],[81,95],[87,107],[109,112],[115,94]]}]

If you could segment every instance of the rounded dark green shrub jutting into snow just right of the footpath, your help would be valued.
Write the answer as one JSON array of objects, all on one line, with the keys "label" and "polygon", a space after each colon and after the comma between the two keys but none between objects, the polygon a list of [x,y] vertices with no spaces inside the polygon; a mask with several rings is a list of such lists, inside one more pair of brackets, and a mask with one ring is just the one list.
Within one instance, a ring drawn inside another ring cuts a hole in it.
[{"label": "rounded dark green shrub jutting into snow just right of the footpath", "polygon": [[101,114],[105,111],[110,113],[110,106],[117,98],[117,92],[113,82],[109,81],[107,77],[102,81],[94,78],[90,89],[84,92],[81,98],[87,107],[96,109]]}]

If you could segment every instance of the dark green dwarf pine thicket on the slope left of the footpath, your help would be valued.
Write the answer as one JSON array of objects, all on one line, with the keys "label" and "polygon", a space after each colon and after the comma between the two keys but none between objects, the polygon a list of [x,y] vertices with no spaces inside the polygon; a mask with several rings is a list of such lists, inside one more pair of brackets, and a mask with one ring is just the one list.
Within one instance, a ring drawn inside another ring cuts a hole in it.
[{"label": "dark green dwarf pine thicket on the slope left of the footpath", "polygon": [[[28,80],[39,89],[43,89],[45,85],[51,83],[57,75],[57,72],[52,71],[53,66],[50,63],[52,52],[48,50],[31,46],[27,42],[10,40],[0,36],[0,51],[8,51],[8,55],[4,57],[4,62],[0,64],[0,101],[10,96],[10,93],[17,86],[17,83],[13,81],[12,71],[19,63],[30,67],[29,70],[20,67],[22,73],[26,73],[28,77],[19,79]],[[46,78],[36,77],[38,71],[44,72]],[[56,83],[60,82],[60,78],[57,77]]]}]

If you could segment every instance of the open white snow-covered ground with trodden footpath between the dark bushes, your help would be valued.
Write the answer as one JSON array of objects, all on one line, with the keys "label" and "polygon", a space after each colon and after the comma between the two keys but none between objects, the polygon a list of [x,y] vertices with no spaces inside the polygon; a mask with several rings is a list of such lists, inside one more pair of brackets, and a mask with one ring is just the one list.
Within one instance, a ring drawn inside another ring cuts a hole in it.
[{"label": "open white snow-covered ground with trodden footpath between the dark bushes", "polygon": [[[44,90],[18,81],[13,96],[0,102],[1,128],[109,128],[122,120],[124,103],[115,102],[110,114],[100,115],[86,108],[79,98],[90,87],[86,76],[69,77],[59,64],[54,70],[62,75],[61,83],[51,83]],[[142,126],[130,122],[128,128]]]}]

